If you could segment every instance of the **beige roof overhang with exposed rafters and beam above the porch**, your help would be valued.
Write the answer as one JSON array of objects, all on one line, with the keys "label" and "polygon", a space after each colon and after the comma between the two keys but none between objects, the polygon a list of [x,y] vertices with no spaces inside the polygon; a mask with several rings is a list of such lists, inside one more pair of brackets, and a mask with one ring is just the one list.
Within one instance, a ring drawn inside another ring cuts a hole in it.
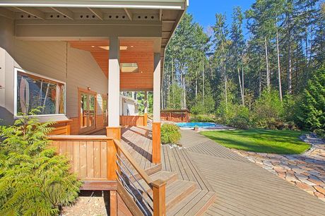
[{"label": "beige roof overhang with exposed rafters and beam above the porch", "polygon": [[163,68],[165,47],[187,6],[188,0],[0,0],[0,17],[15,20],[20,40],[158,37]]}]

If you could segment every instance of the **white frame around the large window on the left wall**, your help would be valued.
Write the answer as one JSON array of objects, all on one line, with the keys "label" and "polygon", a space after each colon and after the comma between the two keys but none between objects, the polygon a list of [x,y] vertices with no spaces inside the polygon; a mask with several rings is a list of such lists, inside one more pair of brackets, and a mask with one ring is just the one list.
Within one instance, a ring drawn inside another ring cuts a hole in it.
[{"label": "white frame around the large window on the left wall", "polygon": [[[64,113],[61,114],[37,114],[37,115],[33,115],[33,116],[66,116],[66,82],[63,82],[61,80],[56,80],[54,78],[50,78],[48,76],[42,76],[40,74],[37,73],[32,73],[30,71],[26,71],[23,70],[21,68],[14,68],[13,71],[13,112],[14,112],[14,117],[15,118],[21,118],[21,116],[17,115],[17,97],[18,97],[18,92],[17,92],[17,76],[18,76],[18,72],[20,73],[25,73],[27,75],[31,75],[31,76],[37,76],[39,78],[45,78],[46,80],[51,80],[55,83],[61,83],[62,85],[64,85]],[[30,116],[30,115],[28,115]]]}]

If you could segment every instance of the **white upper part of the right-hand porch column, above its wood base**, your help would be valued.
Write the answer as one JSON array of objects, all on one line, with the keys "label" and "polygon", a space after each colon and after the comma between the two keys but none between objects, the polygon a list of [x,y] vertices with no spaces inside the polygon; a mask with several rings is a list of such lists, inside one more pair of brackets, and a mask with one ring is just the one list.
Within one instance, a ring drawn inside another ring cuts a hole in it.
[{"label": "white upper part of the right-hand porch column, above its wood base", "polygon": [[160,53],[154,54],[153,122],[160,122]]}]

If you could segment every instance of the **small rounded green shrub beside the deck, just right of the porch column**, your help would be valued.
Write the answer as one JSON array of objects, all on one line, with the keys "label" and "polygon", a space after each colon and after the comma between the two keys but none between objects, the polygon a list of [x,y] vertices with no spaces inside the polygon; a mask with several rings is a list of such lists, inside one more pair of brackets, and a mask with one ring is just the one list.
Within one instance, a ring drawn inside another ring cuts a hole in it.
[{"label": "small rounded green shrub beside the deck, just right of the porch column", "polygon": [[181,138],[179,127],[175,124],[162,124],[161,126],[161,143],[177,144]]}]

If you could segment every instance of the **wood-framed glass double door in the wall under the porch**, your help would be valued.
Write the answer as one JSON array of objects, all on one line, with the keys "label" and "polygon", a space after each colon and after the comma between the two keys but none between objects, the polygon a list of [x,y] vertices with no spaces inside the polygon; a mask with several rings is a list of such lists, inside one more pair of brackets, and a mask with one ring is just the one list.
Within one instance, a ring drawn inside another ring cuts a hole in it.
[{"label": "wood-framed glass double door in the wall under the porch", "polygon": [[88,92],[81,92],[80,97],[80,128],[81,133],[95,129],[96,98]]}]

